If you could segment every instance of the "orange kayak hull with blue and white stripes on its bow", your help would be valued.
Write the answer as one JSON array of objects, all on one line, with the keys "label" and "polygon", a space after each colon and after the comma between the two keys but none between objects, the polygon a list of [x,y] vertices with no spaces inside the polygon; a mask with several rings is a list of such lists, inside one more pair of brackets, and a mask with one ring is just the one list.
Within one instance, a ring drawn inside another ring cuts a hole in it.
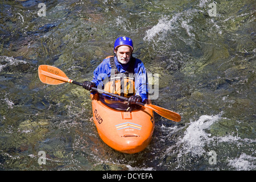
[{"label": "orange kayak hull with blue and white stripes on its bow", "polygon": [[155,127],[151,109],[122,111],[104,105],[98,94],[91,94],[93,120],[103,142],[119,152],[134,154],[151,141]]}]

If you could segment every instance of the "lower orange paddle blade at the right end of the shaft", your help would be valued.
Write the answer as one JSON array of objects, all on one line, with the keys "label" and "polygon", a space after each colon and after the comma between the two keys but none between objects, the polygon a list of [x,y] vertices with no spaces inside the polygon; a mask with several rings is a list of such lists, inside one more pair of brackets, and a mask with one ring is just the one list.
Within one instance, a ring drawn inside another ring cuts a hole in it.
[{"label": "lower orange paddle blade at the right end of the shaft", "polygon": [[163,107],[159,107],[152,104],[145,104],[144,107],[147,107],[148,109],[152,109],[159,115],[162,115],[162,117],[170,119],[172,121],[179,122],[181,120],[181,117],[179,114],[175,113],[174,111],[164,109]]}]

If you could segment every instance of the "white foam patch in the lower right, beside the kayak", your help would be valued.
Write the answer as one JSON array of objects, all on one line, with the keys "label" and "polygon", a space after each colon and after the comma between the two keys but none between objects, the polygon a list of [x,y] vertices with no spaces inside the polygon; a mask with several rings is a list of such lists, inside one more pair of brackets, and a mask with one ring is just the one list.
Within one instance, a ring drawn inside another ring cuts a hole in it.
[{"label": "white foam patch in the lower right, beside the kayak", "polygon": [[[218,169],[230,169],[230,167],[236,170],[256,169],[256,158],[253,156],[255,152],[251,154],[253,150],[246,151],[243,149],[246,146],[254,146],[256,140],[230,134],[214,136],[209,132],[211,126],[223,121],[223,119],[228,119],[221,117],[222,114],[221,112],[218,115],[201,115],[199,119],[196,121],[191,120],[184,127],[175,126],[172,129],[171,127],[162,127],[163,131],[170,129],[170,136],[185,130],[184,135],[177,138],[176,144],[166,150],[167,155],[177,156],[177,168],[187,169],[184,161],[186,163],[195,163],[193,160],[200,160],[200,158],[205,159],[205,163],[208,163],[209,151],[216,150],[218,165],[220,165]],[[234,148],[234,151],[229,151],[230,149],[223,148],[222,146]],[[241,154],[238,152],[240,150],[243,151]],[[229,154],[226,154],[226,152],[229,152]]]}]

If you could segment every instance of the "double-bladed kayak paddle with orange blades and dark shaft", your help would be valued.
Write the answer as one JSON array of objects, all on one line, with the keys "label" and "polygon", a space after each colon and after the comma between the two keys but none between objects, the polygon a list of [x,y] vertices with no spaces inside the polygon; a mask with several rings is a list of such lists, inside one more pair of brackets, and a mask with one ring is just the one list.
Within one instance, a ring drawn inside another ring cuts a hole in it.
[{"label": "double-bladed kayak paddle with orange blades and dark shaft", "polygon": [[[59,68],[52,67],[50,65],[40,65],[38,67],[38,75],[39,75],[40,80],[44,84],[58,85],[58,84],[63,84],[64,82],[69,82],[71,84],[76,84],[76,85],[82,86],[82,84],[80,82],[76,82],[76,81],[69,79],[65,75],[65,73],[63,71],[61,71]],[[99,92],[99,93],[104,93],[108,96],[119,98],[124,101],[129,100],[129,98],[122,97],[117,94],[109,93],[102,89],[92,87],[92,90]],[[135,104],[144,106],[151,110],[154,110],[159,115],[162,115],[162,117],[170,119],[172,121],[179,122],[181,120],[181,117],[179,114],[174,113],[173,111],[170,111],[168,109],[164,109],[163,107],[159,107],[159,106],[152,105],[152,104],[144,104],[142,102],[136,102]]]}]

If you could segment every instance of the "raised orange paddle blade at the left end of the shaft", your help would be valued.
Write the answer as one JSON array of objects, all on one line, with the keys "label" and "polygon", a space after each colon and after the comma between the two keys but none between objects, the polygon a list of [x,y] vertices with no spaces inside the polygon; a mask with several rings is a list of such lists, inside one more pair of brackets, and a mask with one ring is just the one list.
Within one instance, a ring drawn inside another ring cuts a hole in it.
[{"label": "raised orange paddle blade at the left end of the shaft", "polygon": [[44,84],[59,85],[64,82],[72,82],[63,71],[50,65],[40,65],[38,75]]}]

